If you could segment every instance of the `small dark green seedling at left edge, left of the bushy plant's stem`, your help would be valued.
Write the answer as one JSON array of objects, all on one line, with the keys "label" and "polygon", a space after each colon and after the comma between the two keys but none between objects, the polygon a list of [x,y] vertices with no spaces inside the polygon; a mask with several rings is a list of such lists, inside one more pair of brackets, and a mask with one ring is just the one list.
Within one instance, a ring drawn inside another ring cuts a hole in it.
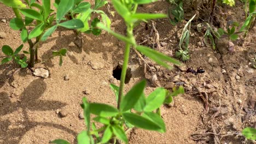
[{"label": "small dark green seedling at left edge, left of the bushy plant's stem", "polygon": [[27,57],[24,56],[22,59],[20,59],[20,57],[18,56],[18,53],[21,51],[23,45],[20,45],[14,52],[13,52],[13,49],[11,49],[10,46],[8,45],[4,45],[2,47],[2,51],[5,55],[7,55],[7,57],[5,57],[1,64],[4,64],[4,63],[7,63],[7,62],[10,62],[11,60],[14,59],[14,61],[18,64],[20,64],[21,68],[26,68],[27,67]]}]

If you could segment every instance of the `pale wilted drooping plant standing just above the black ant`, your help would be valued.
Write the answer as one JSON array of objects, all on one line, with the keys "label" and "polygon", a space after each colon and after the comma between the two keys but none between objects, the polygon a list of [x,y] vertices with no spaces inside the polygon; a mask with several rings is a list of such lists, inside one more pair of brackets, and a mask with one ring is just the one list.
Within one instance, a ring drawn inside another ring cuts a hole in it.
[{"label": "pale wilted drooping plant standing just above the black ant", "polygon": [[190,23],[195,18],[196,15],[191,17],[191,19],[186,23],[182,30],[181,38],[179,40],[179,50],[175,52],[177,58],[182,58],[182,61],[188,61],[189,56],[189,38],[190,38]]}]

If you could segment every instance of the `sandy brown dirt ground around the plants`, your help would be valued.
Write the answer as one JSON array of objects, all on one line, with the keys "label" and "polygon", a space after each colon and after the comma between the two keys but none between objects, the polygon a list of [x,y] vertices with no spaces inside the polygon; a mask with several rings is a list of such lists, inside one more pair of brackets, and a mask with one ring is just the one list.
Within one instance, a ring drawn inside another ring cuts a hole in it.
[{"label": "sandy brown dirt ground around the plants", "polygon": [[[195,13],[188,6],[189,4],[184,8],[185,17],[191,17],[191,14]],[[138,10],[167,13],[168,7],[170,4],[162,1],[144,5]],[[113,10],[112,7],[110,9]],[[238,1],[234,8],[224,5],[219,9],[227,10],[229,19],[241,23],[244,21],[244,18],[241,18],[243,7]],[[7,34],[0,39],[0,47],[10,45],[16,48],[22,44],[20,32],[9,27],[9,21],[13,17],[13,11],[0,4],[0,20],[7,20],[0,22],[0,32]],[[115,16],[111,19],[113,29],[124,34],[125,26],[121,17]],[[172,56],[179,41],[177,35],[185,23],[172,26],[168,20],[155,22],[160,42],[167,43],[161,47],[161,51]],[[235,52],[231,55],[228,53],[228,41],[225,39],[218,41],[217,51],[210,46],[202,46],[200,43],[203,35],[196,32],[195,28],[199,23],[200,21],[194,21],[191,26],[191,59],[184,65],[187,68],[202,66],[206,73],[195,76],[184,74],[176,67],[166,70],[150,64],[153,73],[158,75],[161,86],[173,82],[173,76],[177,74],[178,81],[186,83],[186,92],[174,98],[174,106],[162,106],[166,133],[135,129],[129,135],[129,143],[214,143],[218,140],[220,143],[250,143],[245,141],[240,131],[246,126],[253,127],[256,122],[256,73],[249,65],[251,58],[256,55],[256,27],[254,26],[248,34],[242,46],[235,46]],[[138,43],[147,36],[150,42],[148,45],[155,43],[154,33],[150,35],[151,29],[150,22],[148,30],[145,29],[144,23],[135,29]],[[84,34],[83,38],[83,48],[79,48],[76,45],[76,35],[72,31],[59,28],[40,46],[39,58],[45,63],[36,64],[36,68],[48,69],[48,79],[27,74],[26,69],[14,73],[19,69],[19,65],[13,62],[0,65],[0,143],[49,143],[55,139],[76,143],[75,137],[85,129],[84,121],[78,117],[82,111],[80,103],[83,97],[88,98],[90,102],[117,105],[109,87],[109,80],[112,79],[113,68],[123,60],[124,44],[104,32],[98,37]],[[68,54],[63,59],[62,67],[59,67],[59,59],[50,56],[51,51],[62,47],[68,49]],[[24,49],[28,49],[27,44]],[[3,58],[1,51],[0,60]],[[149,62],[148,59],[146,61]],[[100,65],[100,68],[92,69],[88,65],[89,62]],[[143,64],[134,51],[131,52],[130,68],[132,78],[125,85],[126,92],[144,78]],[[225,69],[226,73],[223,74],[222,69]],[[65,81],[65,75],[68,75],[70,80]],[[235,79],[236,75],[240,76],[240,80]],[[148,81],[146,94],[154,89]],[[83,91],[89,94],[85,95]],[[201,97],[208,98],[203,101]],[[67,116],[61,118],[56,111],[65,112]]]}]

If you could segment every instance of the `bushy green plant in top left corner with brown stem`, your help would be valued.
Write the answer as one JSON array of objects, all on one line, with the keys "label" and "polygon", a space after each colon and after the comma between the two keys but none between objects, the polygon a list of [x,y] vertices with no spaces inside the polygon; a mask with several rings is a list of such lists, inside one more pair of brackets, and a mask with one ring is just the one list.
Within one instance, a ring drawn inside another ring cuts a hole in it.
[{"label": "bushy green plant in top left corner with brown stem", "polygon": [[[43,0],[42,5],[35,1],[26,0],[26,4],[19,0],[6,1],[0,0],[3,4],[13,8],[15,18],[10,21],[10,27],[14,30],[21,31],[21,40],[23,43],[29,44],[30,55],[29,67],[34,67],[34,62],[38,62],[38,47],[41,41],[45,41],[58,26],[77,29],[83,28],[84,24],[81,20],[73,19],[65,20],[64,16],[74,7],[74,2],[78,0],[63,0],[59,3],[57,12],[50,9],[50,0]],[[21,14],[24,15],[23,20]],[[32,31],[28,32],[27,27],[33,27]],[[36,39],[33,43],[32,39]]]}]

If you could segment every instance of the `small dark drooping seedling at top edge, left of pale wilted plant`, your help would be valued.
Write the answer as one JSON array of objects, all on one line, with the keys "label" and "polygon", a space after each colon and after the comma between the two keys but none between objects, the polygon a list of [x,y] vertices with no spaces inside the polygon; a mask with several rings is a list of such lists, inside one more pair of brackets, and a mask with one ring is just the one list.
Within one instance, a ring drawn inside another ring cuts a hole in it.
[{"label": "small dark drooping seedling at top edge, left of pale wilted plant", "polygon": [[[172,15],[174,19],[171,18]],[[176,4],[176,8],[172,10],[168,9],[168,17],[170,19],[171,24],[174,26],[176,26],[178,22],[181,22],[184,19],[183,3],[179,2],[179,4]]]}]

